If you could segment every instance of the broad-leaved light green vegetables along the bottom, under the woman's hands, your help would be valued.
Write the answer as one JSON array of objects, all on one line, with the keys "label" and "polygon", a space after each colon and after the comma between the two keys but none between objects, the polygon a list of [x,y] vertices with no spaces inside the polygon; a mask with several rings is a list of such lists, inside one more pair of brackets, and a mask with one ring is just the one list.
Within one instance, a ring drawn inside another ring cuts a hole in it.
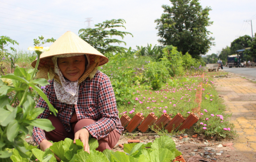
[{"label": "broad-leaved light green vegetables along the bottom, under the woman's hands", "polygon": [[[47,148],[45,152],[35,148],[36,146],[28,146],[26,144],[27,154],[29,158],[23,158],[19,152],[9,150],[13,152],[11,160],[14,162],[18,161],[57,161],[54,157],[56,154],[63,162],[65,161],[110,161],[110,162],[121,162],[121,161],[172,161],[178,155],[181,155],[175,148],[175,142],[168,136],[162,136],[154,140],[153,143],[132,143],[124,144],[124,152],[113,152],[112,150],[105,150],[103,152],[96,151],[95,149],[99,146],[96,139],[92,138],[89,140],[90,154],[83,150],[83,143],[80,140],[74,141],[66,138],[64,141],[54,142],[50,148]],[[125,153],[126,152],[126,153]],[[36,158],[36,159],[35,159]]]}]

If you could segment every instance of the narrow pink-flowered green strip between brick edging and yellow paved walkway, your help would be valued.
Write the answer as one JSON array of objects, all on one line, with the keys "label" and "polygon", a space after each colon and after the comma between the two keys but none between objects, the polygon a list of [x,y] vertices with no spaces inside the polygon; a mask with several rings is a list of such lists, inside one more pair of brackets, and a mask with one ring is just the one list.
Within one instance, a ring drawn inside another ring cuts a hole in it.
[{"label": "narrow pink-flowered green strip between brick edging and yellow paved walkway", "polygon": [[[217,72],[223,75],[223,72]],[[224,100],[218,97],[212,74],[206,73],[203,80],[203,93],[201,103],[202,116],[194,127],[194,131],[206,137],[233,138],[236,137],[234,124],[229,122],[231,114],[225,114]],[[227,129],[227,130],[226,130]]]}]

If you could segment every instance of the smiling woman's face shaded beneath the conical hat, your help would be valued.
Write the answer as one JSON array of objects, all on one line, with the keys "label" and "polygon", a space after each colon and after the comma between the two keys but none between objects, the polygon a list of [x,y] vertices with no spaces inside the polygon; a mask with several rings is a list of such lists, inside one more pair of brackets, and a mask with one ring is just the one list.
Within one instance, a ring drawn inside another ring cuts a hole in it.
[{"label": "smiling woman's face shaded beneath the conical hat", "polygon": [[77,81],[86,69],[86,57],[84,55],[59,57],[57,63],[62,75],[70,81]]}]

